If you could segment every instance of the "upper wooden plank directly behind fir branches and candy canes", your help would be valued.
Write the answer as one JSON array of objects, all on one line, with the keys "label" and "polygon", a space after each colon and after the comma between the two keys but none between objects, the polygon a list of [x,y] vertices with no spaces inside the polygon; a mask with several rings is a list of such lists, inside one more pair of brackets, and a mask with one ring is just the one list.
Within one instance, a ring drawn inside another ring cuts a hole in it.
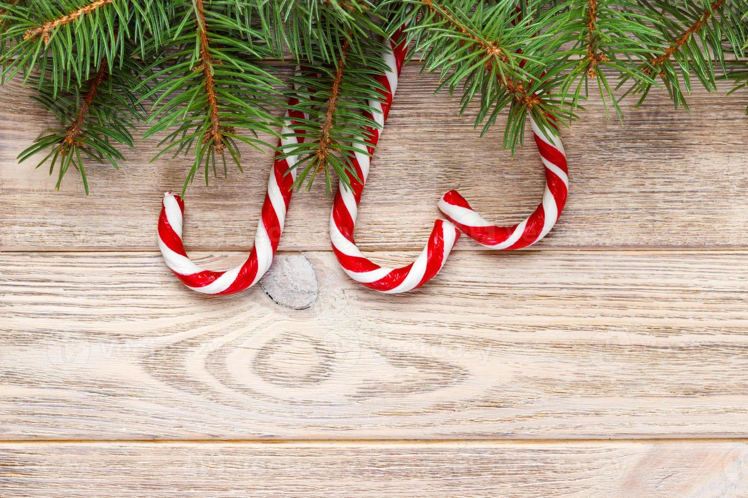
[{"label": "upper wooden plank directly behind fir branches and candy canes", "polygon": [[[457,99],[432,96],[434,75],[407,66],[364,194],[358,240],[367,249],[420,248],[439,216],[436,202],[459,189],[488,219],[521,220],[542,195],[534,146],[514,161],[500,150],[501,125],[484,139],[475,108],[459,119]],[[663,93],[647,107],[625,106],[623,124],[593,99],[565,131],[571,197],[561,222],[539,248],[727,247],[748,243],[748,127],[744,96],[695,90],[693,113],[672,110]],[[55,178],[16,164],[16,155],[52,119],[11,83],[0,89],[0,249],[152,250],[161,194],[179,190],[188,158],[155,164],[155,140],[138,144],[121,171],[89,168],[92,195],[71,173]],[[245,151],[245,175],[200,181],[188,192],[186,243],[239,249],[251,243],[269,175],[268,155]],[[326,250],[331,197],[322,183],[295,196],[281,249]],[[457,249],[476,249],[469,240]]]}]

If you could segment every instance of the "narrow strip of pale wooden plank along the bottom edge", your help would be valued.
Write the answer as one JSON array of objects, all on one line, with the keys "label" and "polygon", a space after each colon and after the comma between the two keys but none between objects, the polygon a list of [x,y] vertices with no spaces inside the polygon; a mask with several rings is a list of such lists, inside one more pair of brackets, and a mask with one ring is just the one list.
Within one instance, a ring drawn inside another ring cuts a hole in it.
[{"label": "narrow strip of pale wooden plank along the bottom edge", "polygon": [[3,443],[0,493],[49,498],[744,497],[748,445]]}]

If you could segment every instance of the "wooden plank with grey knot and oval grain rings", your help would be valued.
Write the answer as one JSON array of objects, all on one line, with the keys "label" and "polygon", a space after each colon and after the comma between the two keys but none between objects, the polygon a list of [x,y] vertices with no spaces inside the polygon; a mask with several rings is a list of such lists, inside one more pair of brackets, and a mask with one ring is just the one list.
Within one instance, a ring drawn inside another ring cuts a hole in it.
[{"label": "wooden plank with grey knot and oval grain rings", "polygon": [[748,435],[748,252],[462,252],[389,297],[303,256],[294,310],[154,252],[1,254],[0,439]]}]

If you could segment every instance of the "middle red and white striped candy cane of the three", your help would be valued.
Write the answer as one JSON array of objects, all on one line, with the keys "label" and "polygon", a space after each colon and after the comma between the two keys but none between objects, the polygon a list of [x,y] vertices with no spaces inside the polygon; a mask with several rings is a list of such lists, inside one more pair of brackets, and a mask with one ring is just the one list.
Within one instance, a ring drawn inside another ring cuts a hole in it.
[{"label": "middle red and white striped candy cane of the three", "polygon": [[444,261],[447,261],[447,256],[460,236],[460,232],[452,223],[436,220],[426,248],[413,263],[400,268],[386,268],[375,264],[358,250],[353,238],[358,204],[361,202],[361,193],[364,192],[364,184],[369,175],[371,155],[381,136],[381,127],[384,126],[392,107],[397,78],[402,69],[402,61],[408,52],[405,42],[399,43],[401,39],[402,31],[398,31],[389,43],[390,51],[382,55],[389,69],[377,77],[377,81],[385,89],[380,90],[381,100],[369,101],[375,112],[364,111],[364,116],[373,119],[380,128],[367,126],[366,144],[354,143],[353,146],[358,150],[349,155],[349,160],[361,181],[350,172],[346,173],[351,187],[346,189],[343,181],[340,182],[330,217],[332,249],[340,266],[355,281],[383,293],[406,292],[429,281],[444,266]]}]

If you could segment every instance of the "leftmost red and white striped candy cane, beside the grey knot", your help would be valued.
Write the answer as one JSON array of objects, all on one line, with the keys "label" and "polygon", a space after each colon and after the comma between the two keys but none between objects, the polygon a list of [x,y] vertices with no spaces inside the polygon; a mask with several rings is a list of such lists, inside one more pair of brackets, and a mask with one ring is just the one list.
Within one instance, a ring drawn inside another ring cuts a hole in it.
[{"label": "leftmost red and white striped candy cane, beside the grey knot", "polygon": [[[289,106],[292,105],[298,105],[298,99],[289,99]],[[299,111],[286,111],[286,125],[281,131],[284,136],[278,141],[279,151],[281,146],[304,141],[304,137],[286,136],[304,133],[303,130],[292,131],[295,119],[307,119],[307,116]],[[174,275],[187,287],[205,294],[233,294],[256,284],[272,264],[275,250],[278,249],[278,242],[281,240],[283,222],[286,220],[296,176],[296,169],[292,168],[295,163],[295,156],[282,158],[281,152],[276,152],[263,202],[262,217],[254,236],[254,247],[247,261],[223,272],[203,270],[190,260],[182,243],[184,202],[180,196],[171,192],[165,193],[159,217],[159,248]]]}]

